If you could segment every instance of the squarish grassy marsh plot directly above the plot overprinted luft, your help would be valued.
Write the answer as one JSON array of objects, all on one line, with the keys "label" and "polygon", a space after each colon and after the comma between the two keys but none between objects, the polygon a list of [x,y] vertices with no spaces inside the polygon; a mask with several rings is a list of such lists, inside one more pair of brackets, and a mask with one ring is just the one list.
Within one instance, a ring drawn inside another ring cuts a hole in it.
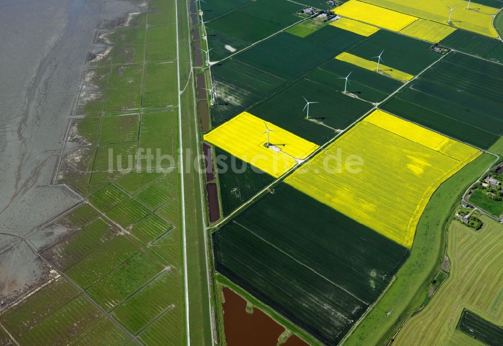
[{"label": "squarish grassy marsh plot directly above the plot overprinted luft", "polygon": [[140,116],[137,114],[104,117],[100,145],[136,142],[139,127]]}]

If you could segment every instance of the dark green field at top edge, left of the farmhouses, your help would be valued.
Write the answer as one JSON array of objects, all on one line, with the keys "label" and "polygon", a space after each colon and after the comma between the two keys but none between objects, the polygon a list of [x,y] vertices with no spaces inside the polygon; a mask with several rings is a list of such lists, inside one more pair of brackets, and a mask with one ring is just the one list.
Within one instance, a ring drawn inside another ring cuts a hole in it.
[{"label": "dark green field at top edge, left of the farmhouses", "polygon": [[215,19],[206,26],[253,43],[302,20],[294,15],[300,9],[302,5],[285,0],[259,1]]}]

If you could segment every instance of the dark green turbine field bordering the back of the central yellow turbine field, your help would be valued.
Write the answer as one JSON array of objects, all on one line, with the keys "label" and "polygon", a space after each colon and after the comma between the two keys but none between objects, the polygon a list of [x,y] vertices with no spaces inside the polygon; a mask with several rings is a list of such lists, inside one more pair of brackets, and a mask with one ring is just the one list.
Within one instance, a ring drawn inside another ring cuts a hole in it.
[{"label": "dark green turbine field bordering the back of the central yellow turbine field", "polygon": [[[348,70],[346,75],[350,72]],[[336,129],[345,129],[372,108],[372,104],[343,92],[344,80],[318,69],[250,112],[321,145],[336,135]],[[317,102],[309,106],[309,117],[320,119],[313,121],[306,118],[304,98]]]}]

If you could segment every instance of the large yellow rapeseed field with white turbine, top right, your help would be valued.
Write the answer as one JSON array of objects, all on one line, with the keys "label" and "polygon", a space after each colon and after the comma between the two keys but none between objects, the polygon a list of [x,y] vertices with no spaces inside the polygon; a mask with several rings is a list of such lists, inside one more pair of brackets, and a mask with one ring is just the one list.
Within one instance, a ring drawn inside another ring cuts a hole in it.
[{"label": "large yellow rapeseed field with white turbine, top right", "polygon": [[[354,0],[350,0],[349,3]],[[449,19],[449,9],[456,8],[452,12],[451,25],[472,31],[489,37],[498,37],[496,31],[492,27],[492,15],[495,15],[498,10],[492,7],[471,4],[474,10],[467,10],[468,2],[465,0],[362,0],[366,3],[377,5],[386,9],[394,10],[415,16],[418,18],[428,19],[437,23],[447,24]],[[346,3],[346,4],[349,4]],[[344,5],[346,6],[346,5]],[[343,15],[346,16],[346,15]],[[351,16],[346,16],[354,18]],[[364,20],[364,22],[367,22]],[[367,22],[370,23],[370,22]],[[371,23],[372,24],[372,23]]]}]

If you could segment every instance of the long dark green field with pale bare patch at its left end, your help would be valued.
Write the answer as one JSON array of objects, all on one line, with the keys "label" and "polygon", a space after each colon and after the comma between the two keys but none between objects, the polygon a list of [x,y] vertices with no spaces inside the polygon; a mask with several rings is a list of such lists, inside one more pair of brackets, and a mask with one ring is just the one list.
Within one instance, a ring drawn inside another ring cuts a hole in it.
[{"label": "long dark green field with pale bare patch at its left end", "polygon": [[[340,38],[348,38],[347,31],[335,32]],[[362,38],[359,35],[350,36],[351,43]],[[281,33],[236,55],[230,61],[214,66],[212,75],[217,105],[211,108],[212,126],[259,103],[281,85],[335,57],[349,44],[343,39],[338,42],[339,48],[334,48],[318,44],[309,36],[300,38]],[[225,105],[227,103],[229,105]]]}]

